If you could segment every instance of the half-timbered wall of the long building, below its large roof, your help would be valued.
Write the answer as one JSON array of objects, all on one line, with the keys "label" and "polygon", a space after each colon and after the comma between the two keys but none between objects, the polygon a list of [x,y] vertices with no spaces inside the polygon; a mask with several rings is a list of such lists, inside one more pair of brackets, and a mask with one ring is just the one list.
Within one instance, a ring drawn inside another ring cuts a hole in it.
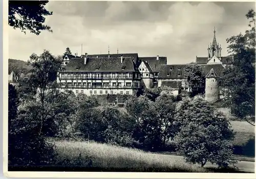
[{"label": "half-timbered wall of the long building, below its large roof", "polygon": [[140,74],[131,73],[82,73],[59,72],[57,82],[61,89],[87,95],[133,95],[140,86]]}]

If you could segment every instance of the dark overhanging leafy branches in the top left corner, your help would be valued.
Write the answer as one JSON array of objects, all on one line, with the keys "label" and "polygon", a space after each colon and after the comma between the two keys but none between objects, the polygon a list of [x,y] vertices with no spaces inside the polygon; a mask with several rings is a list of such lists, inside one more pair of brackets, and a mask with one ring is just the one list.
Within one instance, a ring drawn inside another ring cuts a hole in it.
[{"label": "dark overhanging leafy branches in the top left corner", "polygon": [[44,25],[45,16],[52,15],[45,9],[48,1],[9,1],[9,26],[26,33],[39,35],[42,30],[52,32],[51,27]]}]

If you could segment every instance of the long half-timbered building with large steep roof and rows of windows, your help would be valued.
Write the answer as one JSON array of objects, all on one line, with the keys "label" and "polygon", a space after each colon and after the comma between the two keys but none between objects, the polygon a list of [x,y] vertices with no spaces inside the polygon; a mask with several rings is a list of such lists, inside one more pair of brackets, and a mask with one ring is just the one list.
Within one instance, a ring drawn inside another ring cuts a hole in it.
[{"label": "long half-timbered building with large steep roof and rows of windows", "polygon": [[61,90],[86,95],[134,95],[141,76],[132,57],[72,58],[58,73]]}]

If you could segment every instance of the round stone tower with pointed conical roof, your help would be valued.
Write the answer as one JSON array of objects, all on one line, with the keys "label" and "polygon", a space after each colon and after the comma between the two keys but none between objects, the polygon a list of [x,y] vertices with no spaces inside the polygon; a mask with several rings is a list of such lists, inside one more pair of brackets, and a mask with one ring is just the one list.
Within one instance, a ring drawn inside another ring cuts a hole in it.
[{"label": "round stone tower with pointed conical roof", "polygon": [[219,77],[213,69],[205,76],[205,100],[216,102],[220,99]]}]

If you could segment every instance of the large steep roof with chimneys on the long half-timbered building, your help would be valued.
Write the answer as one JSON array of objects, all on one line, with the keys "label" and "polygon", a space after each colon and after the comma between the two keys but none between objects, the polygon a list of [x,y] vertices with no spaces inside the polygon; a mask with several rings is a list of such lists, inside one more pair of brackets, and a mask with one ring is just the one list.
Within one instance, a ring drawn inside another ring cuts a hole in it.
[{"label": "large steep roof with chimneys on the long half-timbered building", "polygon": [[89,58],[84,64],[84,58],[72,58],[63,69],[66,72],[138,72],[131,57],[121,58]]}]

